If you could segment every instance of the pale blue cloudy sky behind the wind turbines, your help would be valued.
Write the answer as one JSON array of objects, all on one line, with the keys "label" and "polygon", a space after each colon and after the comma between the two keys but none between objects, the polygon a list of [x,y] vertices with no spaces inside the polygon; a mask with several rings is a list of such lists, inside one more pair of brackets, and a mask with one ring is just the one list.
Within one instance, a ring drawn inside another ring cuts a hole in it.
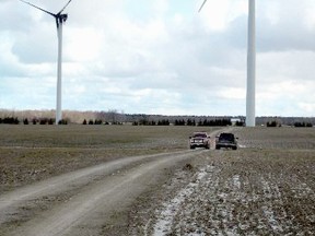
[{"label": "pale blue cloudy sky behind the wind turbines", "polygon": [[[57,13],[68,0],[28,0]],[[62,109],[245,115],[247,0],[72,0]],[[257,0],[257,116],[315,116],[315,1]],[[55,109],[54,17],[0,0],[0,109]]]}]

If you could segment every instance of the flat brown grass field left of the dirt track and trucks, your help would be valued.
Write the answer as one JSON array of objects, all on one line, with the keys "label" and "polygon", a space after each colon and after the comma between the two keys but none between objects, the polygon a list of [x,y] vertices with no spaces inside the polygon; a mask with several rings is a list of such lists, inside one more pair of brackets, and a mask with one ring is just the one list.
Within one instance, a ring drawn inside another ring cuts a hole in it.
[{"label": "flat brown grass field left of the dirt track and trucks", "polygon": [[187,149],[187,138],[195,130],[172,126],[2,125],[0,192],[114,158]]}]

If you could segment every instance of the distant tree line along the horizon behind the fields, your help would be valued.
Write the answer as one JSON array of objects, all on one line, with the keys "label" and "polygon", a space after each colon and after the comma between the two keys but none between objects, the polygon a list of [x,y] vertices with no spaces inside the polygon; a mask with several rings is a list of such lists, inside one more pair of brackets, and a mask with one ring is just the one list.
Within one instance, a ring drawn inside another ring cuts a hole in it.
[{"label": "distant tree line along the horizon behind the fields", "polygon": [[[62,125],[125,125],[133,126],[243,126],[244,116],[164,116],[125,114],[116,109],[107,111],[62,111]],[[54,125],[55,110],[0,109],[0,123]],[[256,117],[257,126],[314,127],[315,117]]]}]

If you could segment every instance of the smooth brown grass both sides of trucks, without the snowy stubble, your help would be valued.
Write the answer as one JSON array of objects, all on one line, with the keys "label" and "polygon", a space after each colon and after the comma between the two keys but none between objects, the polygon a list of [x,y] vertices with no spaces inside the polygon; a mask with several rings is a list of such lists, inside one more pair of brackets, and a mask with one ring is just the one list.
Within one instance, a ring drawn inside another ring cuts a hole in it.
[{"label": "smooth brown grass both sides of trucks, without the snowy stubble", "polygon": [[[184,150],[187,149],[191,132],[211,132],[215,129],[218,128],[2,125],[0,193],[114,158]],[[314,128],[235,129],[241,148],[254,148],[258,153],[270,153],[288,160],[290,156],[302,156],[302,160],[308,157],[311,162],[315,158]]]}]

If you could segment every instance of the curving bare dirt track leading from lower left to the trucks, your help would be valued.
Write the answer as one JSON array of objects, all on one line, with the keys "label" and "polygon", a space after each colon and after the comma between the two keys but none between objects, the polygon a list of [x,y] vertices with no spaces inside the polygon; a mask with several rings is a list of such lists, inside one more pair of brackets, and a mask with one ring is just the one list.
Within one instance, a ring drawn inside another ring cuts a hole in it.
[{"label": "curving bare dirt track leading from lower left to the trucks", "polygon": [[[121,206],[130,203],[152,181],[154,173],[201,152],[207,151],[188,150],[126,157],[3,194],[0,197],[0,235],[1,232],[8,235],[73,235],[73,231],[75,235],[98,235],[106,212],[114,211],[117,204]],[[66,201],[55,202],[39,213],[36,210],[34,214],[32,208],[27,212],[30,202],[71,190],[73,192]],[[28,214],[26,221],[19,219],[21,209]],[[79,226],[82,223],[85,226]]]}]

